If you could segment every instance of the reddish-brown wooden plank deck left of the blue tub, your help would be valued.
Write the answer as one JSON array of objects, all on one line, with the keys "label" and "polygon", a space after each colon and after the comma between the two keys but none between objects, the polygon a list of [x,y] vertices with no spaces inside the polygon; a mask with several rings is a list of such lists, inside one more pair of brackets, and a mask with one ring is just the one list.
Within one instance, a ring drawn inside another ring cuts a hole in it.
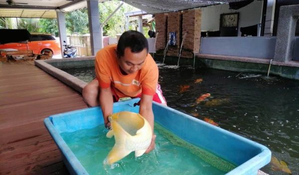
[{"label": "reddish-brown wooden plank deck left of the blue tub", "polygon": [[68,175],[43,119],[85,107],[33,62],[0,63],[0,175]]}]

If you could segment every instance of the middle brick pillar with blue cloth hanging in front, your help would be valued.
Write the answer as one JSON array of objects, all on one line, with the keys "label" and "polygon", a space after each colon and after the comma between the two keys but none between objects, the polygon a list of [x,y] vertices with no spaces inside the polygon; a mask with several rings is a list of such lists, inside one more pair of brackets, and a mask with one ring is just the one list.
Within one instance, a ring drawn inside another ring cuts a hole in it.
[{"label": "middle brick pillar with blue cloth hanging in front", "polygon": [[168,56],[178,56],[180,46],[180,12],[168,13],[167,17],[167,41],[169,40],[169,32],[176,32],[176,42],[174,46],[168,46]]}]

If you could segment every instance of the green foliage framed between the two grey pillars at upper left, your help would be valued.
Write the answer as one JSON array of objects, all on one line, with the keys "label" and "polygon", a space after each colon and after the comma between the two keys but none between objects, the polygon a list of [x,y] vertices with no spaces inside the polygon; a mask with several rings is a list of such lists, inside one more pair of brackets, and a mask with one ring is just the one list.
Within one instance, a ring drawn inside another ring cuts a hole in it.
[{"label": "green foliage framed between the two grey pillars at upper left", "polygon": [[89,33],[87,8],[65,13],[66,29],[68,34],[78,32]]}]

